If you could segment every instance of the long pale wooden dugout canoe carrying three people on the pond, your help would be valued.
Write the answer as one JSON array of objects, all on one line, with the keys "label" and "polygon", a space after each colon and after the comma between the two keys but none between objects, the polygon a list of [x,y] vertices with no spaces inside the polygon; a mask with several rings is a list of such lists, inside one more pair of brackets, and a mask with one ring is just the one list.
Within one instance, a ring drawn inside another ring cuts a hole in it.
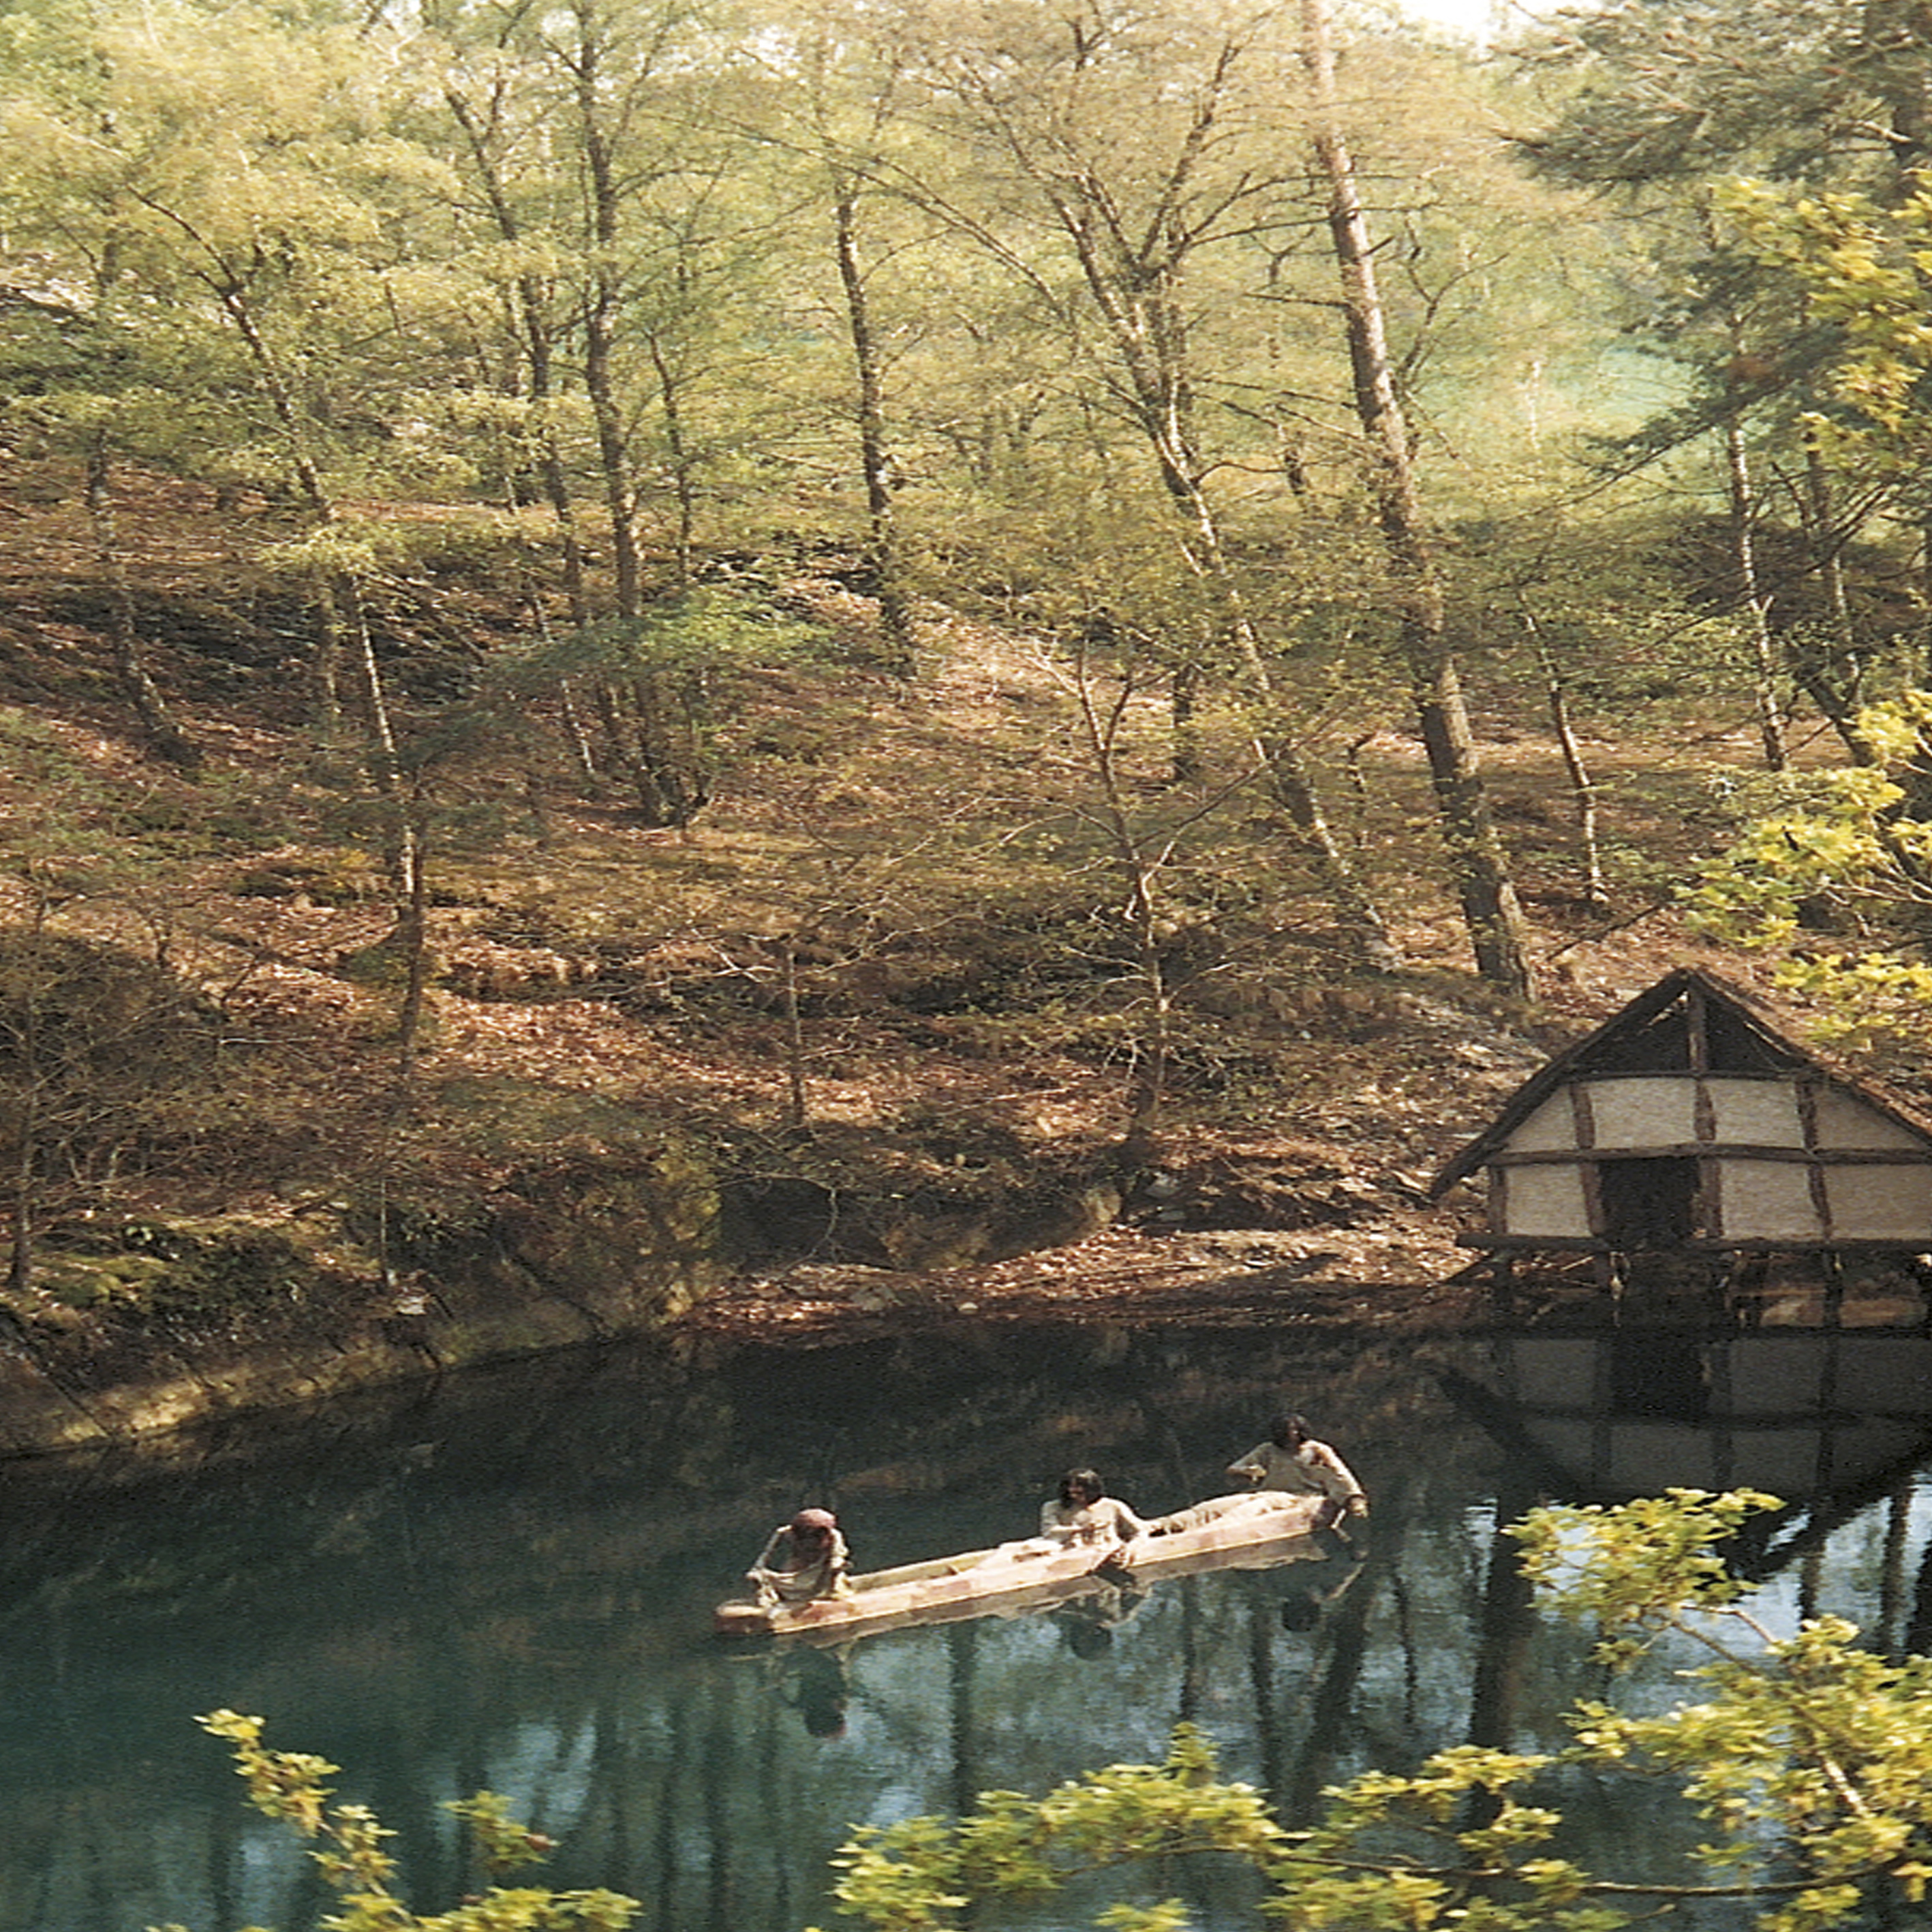
[{"label": "long pale wooden dugout canoe carrying three people on the pond", "polygon": [[1047,1549],[1037,1540],[968,1549],[925,1563],[848,1578],[850,1596],[761,1609],[750,1600],[719,1604],[713,1627],[724,1636],[804,1636],[844,1642],[916,1623],[968,1617],[1020,1617],[1082,1596],[1190,1577],[1217,1569],[1273,1569],[1327,1557],[1337,1548],[1320,1495],[1227,1497],[1225,1513],[1190,1522],[1192,1511],[1155,1517],[1130,1544]]}]

